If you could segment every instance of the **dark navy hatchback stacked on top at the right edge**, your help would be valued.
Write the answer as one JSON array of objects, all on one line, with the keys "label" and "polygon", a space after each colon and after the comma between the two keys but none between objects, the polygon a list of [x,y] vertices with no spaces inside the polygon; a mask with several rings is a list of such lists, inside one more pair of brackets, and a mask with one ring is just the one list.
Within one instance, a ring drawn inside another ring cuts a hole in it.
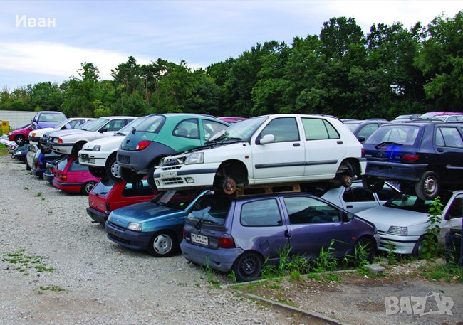
[{"label": "dark navy hatchback stacked on top at the right edge", "polygon": [[397,180],[412,184],[417,196],[430,200],[442,188],[463,184],[463,124],[385,124],[363,146],[363,186],[368,191],[379,191],[385,180]]}]

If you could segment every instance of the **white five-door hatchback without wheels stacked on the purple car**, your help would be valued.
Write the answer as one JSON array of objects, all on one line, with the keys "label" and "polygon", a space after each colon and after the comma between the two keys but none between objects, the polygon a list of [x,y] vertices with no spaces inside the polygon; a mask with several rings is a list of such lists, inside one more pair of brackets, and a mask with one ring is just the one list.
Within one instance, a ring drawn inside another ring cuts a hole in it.
[{"label": "white five-door hatchback without wheels stacked on the purple car", "polygon": [[232,124],[207,145],[162,159],[157,188],[215,188],[332,181],[364,174],[362,145],[335,117],[274,114]]}]

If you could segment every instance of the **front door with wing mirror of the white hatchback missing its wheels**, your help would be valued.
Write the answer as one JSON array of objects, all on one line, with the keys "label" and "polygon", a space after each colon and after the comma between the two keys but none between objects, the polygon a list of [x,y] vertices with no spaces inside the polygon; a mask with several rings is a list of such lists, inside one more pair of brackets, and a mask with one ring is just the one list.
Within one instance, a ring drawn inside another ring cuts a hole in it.
[{"label": "front door with wing mirror of the white hatchback missing its wheels", "polygon": [[[266,135],[274,136],[274,142],[261,144]],[[301,177],[304,172],[305,151],[295,117],[276,117],[251,139],[254,179]]]}]

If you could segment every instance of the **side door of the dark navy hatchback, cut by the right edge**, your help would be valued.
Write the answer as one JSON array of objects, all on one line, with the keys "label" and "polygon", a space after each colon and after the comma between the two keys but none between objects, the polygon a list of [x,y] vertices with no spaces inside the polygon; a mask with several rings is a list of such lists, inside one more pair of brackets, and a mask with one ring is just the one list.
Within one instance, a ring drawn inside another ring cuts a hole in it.
[{"label": "side door of the dark navy hatchback, cut by the right edge", "polygon": [[458,127],[436,127],[438,163],[444,183],[463,183],[463,139]]}]

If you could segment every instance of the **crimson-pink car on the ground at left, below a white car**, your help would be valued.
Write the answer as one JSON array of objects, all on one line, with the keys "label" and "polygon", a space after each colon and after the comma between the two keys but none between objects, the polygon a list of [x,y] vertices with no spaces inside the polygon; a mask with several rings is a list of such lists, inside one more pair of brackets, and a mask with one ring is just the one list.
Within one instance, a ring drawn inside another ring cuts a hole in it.
[{"label": "crimson-pink car on the ground at left, below a white car", "polygon": [[76,157],[66,156],[56,164],[53,186],[63,191],[88,195],[98,181]]}]

